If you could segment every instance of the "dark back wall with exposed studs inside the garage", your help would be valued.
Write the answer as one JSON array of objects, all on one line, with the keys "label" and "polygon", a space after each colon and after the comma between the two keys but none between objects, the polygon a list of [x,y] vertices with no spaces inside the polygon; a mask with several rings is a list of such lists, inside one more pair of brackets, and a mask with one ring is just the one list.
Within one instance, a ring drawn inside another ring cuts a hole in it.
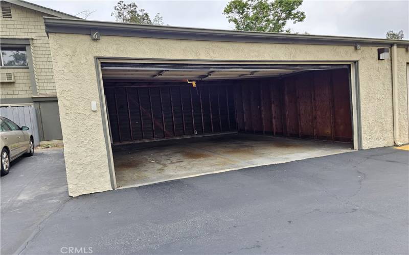
[{"label": "dark back wall with exposed studs inside the garage", "polygon": [[162,85],[106,83],[104,90],[113,142],[237,130],[232,86]]}]

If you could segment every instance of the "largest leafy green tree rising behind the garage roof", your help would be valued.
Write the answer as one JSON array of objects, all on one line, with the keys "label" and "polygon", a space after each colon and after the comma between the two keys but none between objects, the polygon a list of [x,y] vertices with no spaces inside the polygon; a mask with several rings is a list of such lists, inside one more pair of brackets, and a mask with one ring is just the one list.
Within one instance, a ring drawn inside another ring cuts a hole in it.
[{"label": "largest leafy green tree rising behind the garage roof", "polygon": [[224,8],[223,14],[236,30],[259,32],[287,32],[287,21],[293,23],[305,19],[305,13],[297,11],[303,0],[232,0]]}]

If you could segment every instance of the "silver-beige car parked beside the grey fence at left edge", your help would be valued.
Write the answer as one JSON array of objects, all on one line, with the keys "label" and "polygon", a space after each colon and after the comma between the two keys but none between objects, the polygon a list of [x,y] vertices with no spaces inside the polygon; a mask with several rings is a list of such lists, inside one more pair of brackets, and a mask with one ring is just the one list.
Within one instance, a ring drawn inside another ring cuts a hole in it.
[{"label": "silver-beige car parked beside the grey fence at left edge", "polygon": [[28,126],[19,127],[8,118],[0,117],[1,175],[8,174],[10,162],[21,155],[33,156],[34,139],[27,130]]}]

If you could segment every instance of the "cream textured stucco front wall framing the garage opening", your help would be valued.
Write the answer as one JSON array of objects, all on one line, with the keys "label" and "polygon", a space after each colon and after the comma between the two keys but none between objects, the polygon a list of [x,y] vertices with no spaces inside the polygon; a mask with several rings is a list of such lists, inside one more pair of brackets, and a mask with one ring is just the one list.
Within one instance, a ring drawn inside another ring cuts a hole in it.
[{"label": "cream textured stucco front wall framing the garage opening", "polygon": [[[70,195],[110,188],[94,57],[133,57],[201,60],[359,61],[363,148],[390,146],[393,141],[391,61],[377,60],[377,47],[209,42],[50,33],[67,181]],[[400,65],[409,58],[400,50]],[[406,71],[399,69],[403,79]],[[400,89],[404,87],[400,81]],[[400,92],[400,106],[407,105]],[[403,108],[402,108],[403,109]],[[400,111],[401,138],[408,142],[407,112]]]}]

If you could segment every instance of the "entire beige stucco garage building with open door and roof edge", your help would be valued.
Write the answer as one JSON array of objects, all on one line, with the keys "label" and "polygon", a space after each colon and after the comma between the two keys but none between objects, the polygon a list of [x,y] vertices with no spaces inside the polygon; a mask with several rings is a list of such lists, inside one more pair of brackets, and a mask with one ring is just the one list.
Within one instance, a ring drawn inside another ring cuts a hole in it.
[{"label": "entire beige stucco garage building with open door and roof edge", "polygon": [[71,196],[409,141],[408,41],[44,23]]}]

